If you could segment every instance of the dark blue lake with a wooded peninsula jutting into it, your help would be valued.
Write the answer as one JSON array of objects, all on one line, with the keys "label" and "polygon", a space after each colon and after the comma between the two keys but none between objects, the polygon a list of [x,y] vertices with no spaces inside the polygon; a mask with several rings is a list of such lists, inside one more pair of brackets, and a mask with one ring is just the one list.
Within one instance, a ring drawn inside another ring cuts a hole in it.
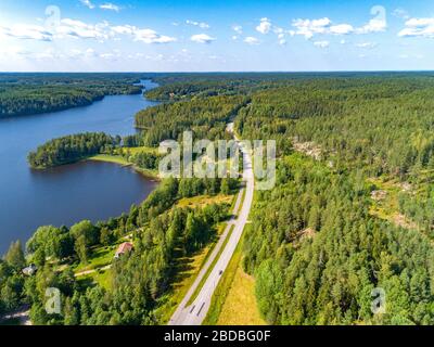
[{"label": "dark blue lake with a wooded peninsula jutting into it", "polygon": [[[148,80],[143,85],[156,87]],[[140,94],[113,95],[85,107],[0,119],[0,255],[13,241],[25,243],[40,226],[106,220],[142,202],[157,183],[132,168],[81,162],[38,171],[26,158],[38,145],[65,134],[131,134],[135,114],[155,104]]]}]

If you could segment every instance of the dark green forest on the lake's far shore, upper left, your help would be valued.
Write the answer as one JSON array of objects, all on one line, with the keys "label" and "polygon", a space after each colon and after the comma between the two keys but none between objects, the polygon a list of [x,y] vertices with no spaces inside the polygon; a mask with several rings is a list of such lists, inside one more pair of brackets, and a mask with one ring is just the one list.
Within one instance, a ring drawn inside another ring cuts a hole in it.
[{"label": "dark green forest on the lake's far shore, upper left", "polygon": [[132,74],[0,74],[0,118],[89,105],[104,95],[139,94]]}]

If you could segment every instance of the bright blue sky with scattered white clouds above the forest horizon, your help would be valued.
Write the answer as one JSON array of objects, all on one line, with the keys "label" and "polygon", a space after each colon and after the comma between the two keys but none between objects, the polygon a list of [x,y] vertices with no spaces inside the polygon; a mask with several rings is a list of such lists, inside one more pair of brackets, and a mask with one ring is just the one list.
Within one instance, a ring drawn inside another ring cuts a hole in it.
[{"label": "bright blue sky with scattered white clouds above the forest horizon", "polygon": [[0,0],[0,72],[423,69],[433,0]]}]

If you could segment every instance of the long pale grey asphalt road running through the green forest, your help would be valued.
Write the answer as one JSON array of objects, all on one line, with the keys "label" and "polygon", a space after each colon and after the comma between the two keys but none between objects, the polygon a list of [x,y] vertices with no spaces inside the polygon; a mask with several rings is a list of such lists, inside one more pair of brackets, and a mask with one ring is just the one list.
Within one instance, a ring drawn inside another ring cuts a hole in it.
[{"label": "long pale grey asphalt road running through the green forest", "polygon": [[[243,191],[240,191],[234,211],[239,210],[238,217],[231,219],[228,222],[228,226],[221,235],[220,240],[218,241],[216,247],[214,248],[212,255],[209,256],[207,262],[200,271],[197,278],[195,279],[193,285],[190,287],[189,292],[182,299],[181,304],[178,306],[177,310],[175,311],[174,316],[171,317],[170,321],[168,322],[169,325],[200,325],[202,324],[203,320],[208,312],[210,306],[210,299],[213,297],[214,291],[217,287],[219,280],[221,279],[222,273],[225,272],[233,252],[237,248],[237,245],[241,239],[243,233],[244,227],[247,222],[248,214],[252,207],[253,202],[253,193],[254,193],[254,176],[253,176],[253,168],[252,168],[252,157],[251,153],[246,151],[246,149],[240,144],[241,153],[243,155],[243,164],[244,164],[244,171],[243,171],[243,180],[245,182],[245,197],[244,202],[239,209],[239,205],[241,203]],[[229,234],[229,230],[231,226],[233,227],[232,233],[229,235],[229,241],[225,246],[225,249],[221,252],[220,257],[218,258],[215,267],[210,270],[208,278],[206,279],[205,283],[203,284],[201,292],[194,299],[194,301],[187,306],[190,298],[192,297],[193,293],[195,292],[196,287],[201,283],[202,279],[208,271],[209,267],[212,266],[214,259],[218,255],[222,244],[225,243],[226,237]]]}]

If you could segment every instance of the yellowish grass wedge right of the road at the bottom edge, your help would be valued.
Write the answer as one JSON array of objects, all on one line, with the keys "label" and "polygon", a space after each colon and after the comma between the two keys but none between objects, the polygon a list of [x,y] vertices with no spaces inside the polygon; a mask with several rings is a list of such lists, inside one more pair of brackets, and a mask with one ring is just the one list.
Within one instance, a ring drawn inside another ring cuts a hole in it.
[{"label": "yellowish grass wedge right of the road at the bottom edge", "polygon": [[255,297],[255,280],[239,264],[217,325],[265,325]]}]

